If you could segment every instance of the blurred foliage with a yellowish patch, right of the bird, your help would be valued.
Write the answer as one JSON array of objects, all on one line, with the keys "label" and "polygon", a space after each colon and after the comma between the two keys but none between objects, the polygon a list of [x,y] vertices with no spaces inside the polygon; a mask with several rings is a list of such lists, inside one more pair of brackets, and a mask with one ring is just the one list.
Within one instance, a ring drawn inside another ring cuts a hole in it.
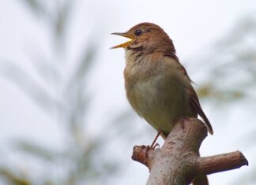
[{"label": "blurred foliage with a yellowish patch, right of the bird", "polygon": [[198,88],[201,98],[218,103],[255,99],[250,93],[256,88],[255,32],[254,17],[244,17],[198,62],[201,66],[197,68],[206,68],[209,78]]}]

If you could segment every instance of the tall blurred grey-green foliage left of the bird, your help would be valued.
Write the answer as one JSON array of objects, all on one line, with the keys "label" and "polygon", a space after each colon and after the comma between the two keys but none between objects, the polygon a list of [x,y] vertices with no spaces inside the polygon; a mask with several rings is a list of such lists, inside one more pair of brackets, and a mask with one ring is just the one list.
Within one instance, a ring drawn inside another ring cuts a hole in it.
[{"label": "tall blurred grey-green foliage left of the bird", "polygon": [[15,150],[37,161],[43,169],[36,173],[36,169],[24,166],[26,168],[24,175],[18,168],[2,166],[0,175],[5,177],[8,184],[15,185],[75,185],[103,182],[107,184],[107,176],[117,169],[117,161],[111,161],[101,152],[106,146],[105,142],[109,135],[101,135],[99,139],[90,137],[86,129],[88,123],[85,121],[92,99],[87,91],[87,74],[95,62],[96,43],[88,42],[88,49],[83,50],[77,61],[73,61],[77,64],[76,68],[70,72],[71,74],[63,74],[63,66],[66,65],[68,68],[68,62],[63,60],[68,49],[65,43],[66,26],[69,24],[76,1],[23,0],[21,2],[32,13],[32,17],[43,20],[45,29],[50,29],[52,36],[50,45],[55,46],[54,56],[47,59],[43,57],[47,54],[42,50],[36,50],[38,53],[32,66],[40,80],[34,79],[22,66],[8,60],[2,60],[4,65],[1,72],[24,91],[24,94],[32,98],[45,113],[58,120],[60,127],[64,127],[63,130],[66,132],[64,134],[66,146],[57,150],[40,143],[18,140],[14,144]]}]

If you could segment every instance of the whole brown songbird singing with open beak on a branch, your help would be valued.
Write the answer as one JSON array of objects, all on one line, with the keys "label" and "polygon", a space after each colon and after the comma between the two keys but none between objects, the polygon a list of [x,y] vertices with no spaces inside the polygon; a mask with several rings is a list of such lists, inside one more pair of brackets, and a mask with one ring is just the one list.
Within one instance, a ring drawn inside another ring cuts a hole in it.
[{"label": "whole brown songbird singing with open beak on a branch", "polygon": [[[156,139],[159,135],[165,139],[178,120],[198,114],[213,135],[190,77],[164,30],[156,24],[141,23],[124,33],[112,34],[130,39],[112,48],[122,47],[126,51],[126,96],[135,112],[158,131]],[[209,183],[203,176],[196,178],[194,184]]]}]

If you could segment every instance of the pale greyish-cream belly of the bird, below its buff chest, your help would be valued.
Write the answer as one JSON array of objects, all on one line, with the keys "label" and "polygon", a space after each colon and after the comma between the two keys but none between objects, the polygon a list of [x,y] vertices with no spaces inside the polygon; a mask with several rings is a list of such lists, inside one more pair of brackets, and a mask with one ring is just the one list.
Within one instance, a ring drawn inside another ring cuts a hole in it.
[{"label": "pale greyish-cream belly of the bird, below its buff chest", "polygon": [[190,114],[185,89],[171,79],[154,76],[150,80],[137,81],[126,91],[134,110],[158,131],[168,133],[176,121]]}]

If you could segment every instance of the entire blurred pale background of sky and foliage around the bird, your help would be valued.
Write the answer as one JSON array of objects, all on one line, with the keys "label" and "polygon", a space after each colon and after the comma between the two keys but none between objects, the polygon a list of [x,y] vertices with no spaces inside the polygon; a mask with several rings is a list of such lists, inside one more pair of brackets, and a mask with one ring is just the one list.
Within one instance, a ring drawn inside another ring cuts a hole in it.
[{"label": "entire blurred pale background of sky and foliage around the bird", "polygon": [[125,40],[111,32],[145,21],[196,83],[215,131],[201,155],[249,161],[210,184],[256,184],[254,0],[0,0],[0,184],[145,184],[130,156],[156,131],[126,101],[124,51],[109,50]]}]

